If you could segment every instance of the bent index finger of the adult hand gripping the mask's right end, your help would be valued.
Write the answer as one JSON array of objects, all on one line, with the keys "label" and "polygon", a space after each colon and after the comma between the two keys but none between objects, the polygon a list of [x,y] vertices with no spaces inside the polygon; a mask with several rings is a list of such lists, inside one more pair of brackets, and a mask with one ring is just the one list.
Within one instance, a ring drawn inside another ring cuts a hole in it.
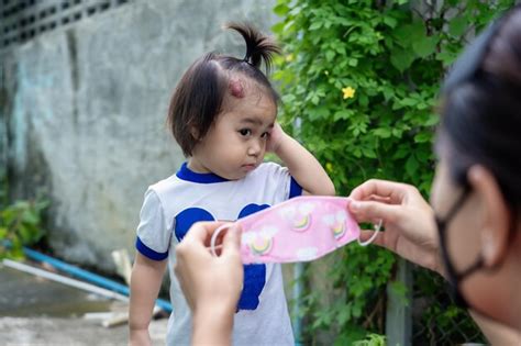
[{"label": "bent index finger of the adult hand gripping the mask's right end", "polygon": [[395,181],[370,179],[355,188],[350,197],[363,201],[372,196],[389,198],[391,203],[399,204],[407,193],[407,185]]}]

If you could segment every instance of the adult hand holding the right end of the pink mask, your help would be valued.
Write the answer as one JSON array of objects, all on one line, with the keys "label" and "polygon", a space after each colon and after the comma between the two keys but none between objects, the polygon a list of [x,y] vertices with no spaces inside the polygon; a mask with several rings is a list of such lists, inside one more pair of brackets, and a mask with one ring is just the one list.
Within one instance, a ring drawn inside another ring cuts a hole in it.
[{"label": "adult hand holding the right end of the pink mask", "polygon": [[[385,231],[375,244],[443,275],[434,213],[417,188],[385,180],[368,180],[353,190],[350,211],[358,222],[383,221]],[[363,231],[362,241],[374,231]]]}]

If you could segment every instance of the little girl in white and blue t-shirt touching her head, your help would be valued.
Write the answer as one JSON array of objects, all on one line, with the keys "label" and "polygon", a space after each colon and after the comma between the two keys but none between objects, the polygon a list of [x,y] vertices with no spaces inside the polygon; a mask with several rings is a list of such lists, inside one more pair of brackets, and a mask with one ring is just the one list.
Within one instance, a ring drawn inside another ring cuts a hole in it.
[{"label": "little girl in white and blue t-shirt touching her head", "polygon": [[[145,193],[131,283],[134,345],[149,344],[148,323],[167,263],[174,306],[167,345],[190,344],[190,310],[173,269],[175,247],[195,222],[234,221],[301,193],[334,194],[317,159],[276,122],[279,97],[259,66],[264,60],[269,71],[279,48],[248,25],[228,27],[244,37],[246,56],[204,55],[171,98],[168,124],[188,159]],[[263,163],[266,152],[286,167]],[[248,265],[244,274],[233,345],[293,345],[280,265]]]}]

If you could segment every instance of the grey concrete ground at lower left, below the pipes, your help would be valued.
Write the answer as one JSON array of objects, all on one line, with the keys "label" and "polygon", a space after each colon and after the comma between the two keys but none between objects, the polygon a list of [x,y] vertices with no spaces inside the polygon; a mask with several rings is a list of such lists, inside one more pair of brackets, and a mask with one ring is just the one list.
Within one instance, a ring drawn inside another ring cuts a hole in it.
[{"label": "grey concrete ground at lower left, below the pipes", "polygon": [[[128,324],[103,327],[100,314],[125,314],[114,301],[4,267],[0,263],[0,344],[128,345]],[[166,341],[167,319],[152,322],[154,345]]]}]

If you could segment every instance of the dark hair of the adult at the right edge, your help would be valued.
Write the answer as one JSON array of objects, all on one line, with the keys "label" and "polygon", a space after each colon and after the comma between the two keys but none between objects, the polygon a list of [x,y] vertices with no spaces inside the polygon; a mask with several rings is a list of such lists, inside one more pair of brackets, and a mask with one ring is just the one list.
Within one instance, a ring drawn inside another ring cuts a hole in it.
[{"label": "dark hair of the adult at the right edge", "polygon": [[[475,66],[473,66],[475,65]],[[452,75],[452,76],[451,76]],[[455,64],[444,88],[440,142],[458,183],[474,164],[490,169],[521,205],[521,7],[490,26]]]}]

